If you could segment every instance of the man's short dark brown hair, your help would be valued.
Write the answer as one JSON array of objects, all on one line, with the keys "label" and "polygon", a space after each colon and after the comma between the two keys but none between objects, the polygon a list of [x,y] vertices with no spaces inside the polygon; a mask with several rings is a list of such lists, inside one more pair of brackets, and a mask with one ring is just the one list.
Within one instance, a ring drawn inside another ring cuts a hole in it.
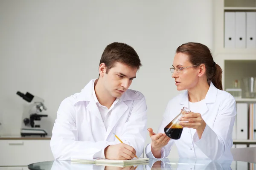
[{"label": "man's short dark brown hair", "polygon": [[134,48],[121,42],[113,42],[107,45],[102,53],[99,65],[105,63],[107,67],[106,73],[108,74],[109,69],[113,68],[116,62],[121,62],[131,68],[137,68],[137,70],[142,66]]}]

